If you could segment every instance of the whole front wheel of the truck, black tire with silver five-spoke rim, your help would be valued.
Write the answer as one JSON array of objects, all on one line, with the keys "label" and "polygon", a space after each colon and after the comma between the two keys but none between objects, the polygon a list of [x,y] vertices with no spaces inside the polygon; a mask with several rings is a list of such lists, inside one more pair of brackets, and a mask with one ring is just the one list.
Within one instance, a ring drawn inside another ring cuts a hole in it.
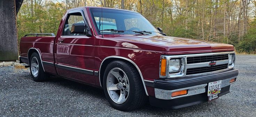
[{"label": "whole front wheel of the truck, black tire with silver five-spoke rim", "polygon": [[118,110],[140,108],[147,100],[139,72],[125,61],[113,61],[107,66],[103,89],[110,105]]}]

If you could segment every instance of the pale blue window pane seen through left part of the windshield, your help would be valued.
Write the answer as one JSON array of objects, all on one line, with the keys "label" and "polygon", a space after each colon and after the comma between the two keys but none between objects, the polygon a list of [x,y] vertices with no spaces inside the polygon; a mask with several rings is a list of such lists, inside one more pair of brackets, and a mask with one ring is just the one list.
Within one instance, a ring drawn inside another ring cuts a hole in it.
[{"label": "pale blue window pane seen through left part of the windshield", "polygon": [[99,17],[94,17],[94,19],[95,19],[95,22],[96,22],[99,30],[102,30],[102,28],[103,28],[103,30],[104,29],[117,29],[115,19],[99,18]]}]

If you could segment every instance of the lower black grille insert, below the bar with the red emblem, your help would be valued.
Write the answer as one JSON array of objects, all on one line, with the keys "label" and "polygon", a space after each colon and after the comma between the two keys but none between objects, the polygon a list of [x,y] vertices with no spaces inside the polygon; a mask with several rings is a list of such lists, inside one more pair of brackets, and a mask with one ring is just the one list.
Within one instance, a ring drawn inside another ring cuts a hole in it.
[{"label": "lower black grille insert, below the bar with the red emblem", "polygon": [[227,69],[227,66],[228,64],[222,64],[222,65],[208,66],[208,67],[189,68],[187,69],[186,75],[214,72],[217,70]]}]

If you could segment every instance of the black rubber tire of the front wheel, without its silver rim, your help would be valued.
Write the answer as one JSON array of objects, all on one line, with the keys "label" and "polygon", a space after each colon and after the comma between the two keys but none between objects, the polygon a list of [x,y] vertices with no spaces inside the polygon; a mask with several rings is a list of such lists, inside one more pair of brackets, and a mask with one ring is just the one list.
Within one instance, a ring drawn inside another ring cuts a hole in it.
[{"label": "black rubber tire of the front wheel, without its silver rim", "polygon": [[[107,76],[110,70],[113,68],[122,69],[127,75],[127,78],[129,80],[130,93],[127,97],[127,100],[122,104],[115,103],[110,98],[107,91]],[[110,103],[110,105],[113,108],[121,111],[130,111],[130,110],[138,109],[143,105],[145,105],[148,99],[138,70],[132,64],[125,61],[121,61],[121,60],[112,61],[108,64],[103,76],[103,89],[104,89],[105,96],[108,102]]]}]

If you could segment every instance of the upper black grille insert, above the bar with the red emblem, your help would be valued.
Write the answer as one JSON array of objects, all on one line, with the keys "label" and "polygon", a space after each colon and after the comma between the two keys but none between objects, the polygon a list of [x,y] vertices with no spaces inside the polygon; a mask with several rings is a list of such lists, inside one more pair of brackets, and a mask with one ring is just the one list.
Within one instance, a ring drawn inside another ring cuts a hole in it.
[{"label": "upper black grille insert, above the bar with the red emblem", "polygon": [[210,62],[210,61],[220,61],[220,60],[228,60],[228,54],[187,57],[187,64],[195,64],[195,63]]}]

